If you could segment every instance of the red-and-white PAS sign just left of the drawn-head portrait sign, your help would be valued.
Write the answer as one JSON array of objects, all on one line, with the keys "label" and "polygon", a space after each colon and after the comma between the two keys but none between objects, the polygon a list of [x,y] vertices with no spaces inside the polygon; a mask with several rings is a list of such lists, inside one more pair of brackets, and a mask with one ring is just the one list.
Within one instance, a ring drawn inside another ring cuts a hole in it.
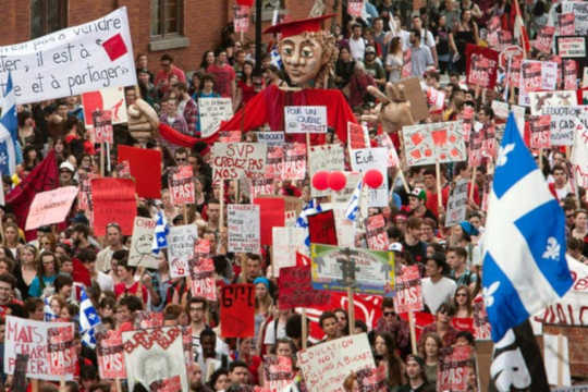
[{"label": "red-and-white PAS sign just left of the drawn-head portrait sign", "polygon": [[101,379],[126,378],[120,330],[96,332],[96,354]]}]

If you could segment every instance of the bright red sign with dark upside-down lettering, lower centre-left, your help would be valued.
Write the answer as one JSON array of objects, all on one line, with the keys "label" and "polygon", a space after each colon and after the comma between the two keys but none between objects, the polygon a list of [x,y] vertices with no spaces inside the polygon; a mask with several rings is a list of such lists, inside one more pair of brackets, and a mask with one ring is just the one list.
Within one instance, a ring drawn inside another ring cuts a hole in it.
[{"label": "bright red sign with dark upside-down lettering, lower centre-left", "polygon": [[221,289],[221,336],[250,338],[255,334],[255,286],[230,284]]}]

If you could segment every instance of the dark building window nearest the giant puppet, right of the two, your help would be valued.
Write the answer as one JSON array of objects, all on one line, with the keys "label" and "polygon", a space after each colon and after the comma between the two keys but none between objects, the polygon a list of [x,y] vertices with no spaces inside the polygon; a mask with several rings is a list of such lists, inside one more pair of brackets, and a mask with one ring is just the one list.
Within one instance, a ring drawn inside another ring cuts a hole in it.
[{"label": "dark building window nearest the giant puppet, right of the two", "polygon": [[151,0],[151,37],[182,35],[184,8],[182,0]]}]

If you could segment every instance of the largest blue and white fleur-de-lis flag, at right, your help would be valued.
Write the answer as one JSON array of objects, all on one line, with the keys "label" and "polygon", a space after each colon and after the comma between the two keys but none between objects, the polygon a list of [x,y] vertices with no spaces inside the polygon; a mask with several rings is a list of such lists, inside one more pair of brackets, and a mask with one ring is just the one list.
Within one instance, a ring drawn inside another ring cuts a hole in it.
[{"label": "largest blue and white fleur-de-lis flag, at right", "polygon": [[482,244],[482,294],[494,342],[569,290],[565,244],[563,210],[511,113],[497,158]]}]

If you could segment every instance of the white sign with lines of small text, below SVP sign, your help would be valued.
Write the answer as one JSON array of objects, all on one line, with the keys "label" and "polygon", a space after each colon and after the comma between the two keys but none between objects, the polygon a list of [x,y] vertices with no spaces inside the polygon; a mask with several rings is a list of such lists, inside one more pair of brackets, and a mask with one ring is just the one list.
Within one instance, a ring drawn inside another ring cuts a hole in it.
[{"label": "white sign with lines of small text, below SVP sign", "polygon": [[228,205],[229,252],[260,253],[259,206]]}]

